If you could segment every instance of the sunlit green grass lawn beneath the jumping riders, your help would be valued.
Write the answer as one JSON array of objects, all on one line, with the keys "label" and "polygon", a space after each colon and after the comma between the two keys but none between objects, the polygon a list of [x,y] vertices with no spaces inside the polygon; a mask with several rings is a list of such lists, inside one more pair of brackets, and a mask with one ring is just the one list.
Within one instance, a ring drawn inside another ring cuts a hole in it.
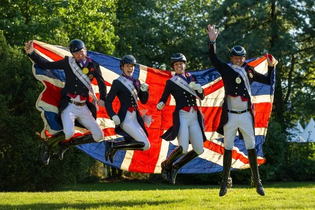
[{"label": "sunlit green grass lawn beneath the jumping riders", "polygon": [[64,187],[58,192],[0,193],[0,209],[315,209],[315,182],[264,185],[260,196],[233,185],[219,197],[219,185],[160,185],[116,181]]}]

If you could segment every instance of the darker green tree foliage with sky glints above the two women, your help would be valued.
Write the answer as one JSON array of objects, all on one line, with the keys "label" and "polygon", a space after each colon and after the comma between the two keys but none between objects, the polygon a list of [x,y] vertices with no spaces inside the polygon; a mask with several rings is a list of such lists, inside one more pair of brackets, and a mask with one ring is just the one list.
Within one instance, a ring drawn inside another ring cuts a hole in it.
[{"label": "darker green tree foliage with sky glints above the two women", "polygon": [[210,0],[119,0],[115,56],[132,54],[140,64],[170,70],[171,56],[180,52],[187,70],[208,68],[204,31],[212,5]]}]

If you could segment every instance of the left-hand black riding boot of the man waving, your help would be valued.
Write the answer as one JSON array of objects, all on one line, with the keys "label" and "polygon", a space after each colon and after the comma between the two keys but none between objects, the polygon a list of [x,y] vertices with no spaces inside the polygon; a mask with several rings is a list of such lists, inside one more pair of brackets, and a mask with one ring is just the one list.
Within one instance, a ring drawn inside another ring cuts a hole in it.
[{"label": "left-hand black riding boot of the man waving", "polygon": [[232,150],[224,149],[223,180],[222,180],[219,196],[224,196],[227,193],[227,188],[232,187],[232,178],[230,177],[231,165],[232,165]]}]

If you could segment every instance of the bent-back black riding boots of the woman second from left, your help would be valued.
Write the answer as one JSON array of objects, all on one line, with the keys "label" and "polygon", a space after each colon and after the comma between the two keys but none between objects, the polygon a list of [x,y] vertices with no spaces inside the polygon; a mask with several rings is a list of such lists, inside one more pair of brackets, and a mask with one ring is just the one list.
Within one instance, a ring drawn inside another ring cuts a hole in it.
[{"label": "bent-back black riding boots of the woman second from left", "polygon": [[105,142],[105,161],[114,162],[114,155],[118,150],[142,150],[144,142],[137,140],[122,140],[118,142]]}]

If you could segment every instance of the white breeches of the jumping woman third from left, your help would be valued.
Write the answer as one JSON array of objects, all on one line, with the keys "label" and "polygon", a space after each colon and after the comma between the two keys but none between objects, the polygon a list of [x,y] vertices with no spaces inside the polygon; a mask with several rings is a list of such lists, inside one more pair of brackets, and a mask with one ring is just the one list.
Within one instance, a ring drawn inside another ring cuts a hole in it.
[{"label": "white breeches of the jumping woman third from left", "polygon": [[193,108],[189,112],[179,110],[179,131],[177,135],[178,145],[183,147],[183,154],[188,150],[189,140],[193,150],[198,154],[204,152],[204,140],[198,122],[197,111]]}]

